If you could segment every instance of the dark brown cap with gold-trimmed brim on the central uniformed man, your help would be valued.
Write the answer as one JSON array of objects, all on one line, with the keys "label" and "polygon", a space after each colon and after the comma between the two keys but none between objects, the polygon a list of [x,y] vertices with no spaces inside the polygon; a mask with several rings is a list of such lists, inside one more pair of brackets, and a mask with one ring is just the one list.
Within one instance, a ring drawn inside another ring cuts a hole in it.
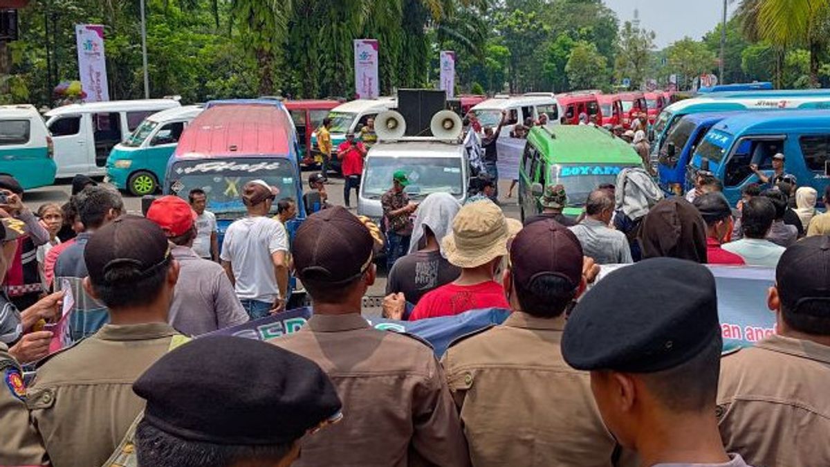
[{"label": "dark brown cap with gold-trimmed brim on the central uniformed man", "polygon": [[342,206],[311,214],[292,245],[297,277],[303,282],[344,285],[372,264],[369,229]]}]

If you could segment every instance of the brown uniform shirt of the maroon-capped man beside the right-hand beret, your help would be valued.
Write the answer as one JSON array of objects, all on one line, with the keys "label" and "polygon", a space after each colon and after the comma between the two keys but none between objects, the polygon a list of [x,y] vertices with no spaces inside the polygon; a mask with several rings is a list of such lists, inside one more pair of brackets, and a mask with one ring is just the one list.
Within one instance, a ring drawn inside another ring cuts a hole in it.
[{"label": "brown uniform shirt of the maroon-capped man beside the right-hand beret", "polygon": [[513,312],[444,354],[472,465],[611,465],[588,373],[565,363],[564,317]]}]

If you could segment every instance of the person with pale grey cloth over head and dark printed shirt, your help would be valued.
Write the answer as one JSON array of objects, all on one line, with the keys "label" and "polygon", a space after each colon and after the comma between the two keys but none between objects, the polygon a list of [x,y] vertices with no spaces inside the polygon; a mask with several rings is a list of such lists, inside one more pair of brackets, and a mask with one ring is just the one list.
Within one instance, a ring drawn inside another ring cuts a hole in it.
[{"label": "person with pale grey cloth over head and dark printed shirt", "polygon": [[461,269],[447,261],[441,239],[452,232],[459,209],[461,204],[447,193],[430,194],[418,205],[409,254],[389,271],[387,295],[402,293],[407,302],[416,304],[425,293],[458,278]]}]

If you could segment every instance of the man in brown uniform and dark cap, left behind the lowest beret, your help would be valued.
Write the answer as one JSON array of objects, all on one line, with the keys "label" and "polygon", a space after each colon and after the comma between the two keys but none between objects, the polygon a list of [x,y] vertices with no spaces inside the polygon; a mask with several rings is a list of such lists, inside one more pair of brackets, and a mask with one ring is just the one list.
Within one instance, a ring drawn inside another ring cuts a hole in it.
[{"label": "man in brown uniform and dark cap, left behind the lowest beret", "polygon": [[110,457],[144,408],[133,381],[178,341],[167,324],[178,263],[158,225],[116,219],[90,238],[84,260],[84,288],[108,308],[110,323],[48,358],[27,391],[54,467],[90,467]]}]

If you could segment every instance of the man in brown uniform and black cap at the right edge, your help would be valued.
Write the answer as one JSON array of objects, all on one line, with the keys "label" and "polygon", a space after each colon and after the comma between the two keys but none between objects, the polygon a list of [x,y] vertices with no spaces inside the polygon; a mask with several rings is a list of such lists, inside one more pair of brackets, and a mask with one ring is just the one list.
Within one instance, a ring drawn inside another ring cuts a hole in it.
[{"label": "man in brown uniform and black cap at the right edge", "polygon": [[759,467],[830,465],[830,237],[787,248],[775,281],[778,333],[721,361],[720,435]]}]

